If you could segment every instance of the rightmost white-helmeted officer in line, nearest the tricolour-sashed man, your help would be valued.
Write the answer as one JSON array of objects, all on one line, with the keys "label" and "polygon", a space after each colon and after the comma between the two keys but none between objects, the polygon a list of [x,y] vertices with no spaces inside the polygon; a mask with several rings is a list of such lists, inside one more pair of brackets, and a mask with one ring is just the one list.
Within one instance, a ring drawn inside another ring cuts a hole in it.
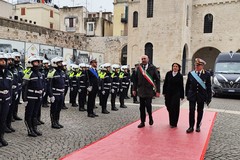
[{"label": "rightmost white-helmeted officer in line, nearest the tricolour-sashed man", "polygon": [[129,73],[128,73],[128,66],[123,65],[121,67],[121,71],[119,74],[120,78],[120,87],[119,87],[119,101],[120,101],[120,108],[127,108],[124,104],[124,99],[127,96],[128,86],[129,86]]}]

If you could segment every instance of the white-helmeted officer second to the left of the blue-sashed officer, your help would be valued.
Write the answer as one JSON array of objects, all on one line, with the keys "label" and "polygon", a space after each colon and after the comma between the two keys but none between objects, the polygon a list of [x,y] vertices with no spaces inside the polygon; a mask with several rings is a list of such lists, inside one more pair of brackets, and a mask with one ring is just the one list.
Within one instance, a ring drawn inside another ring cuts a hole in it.
[{"label": "white-helmeted officer second to the left of the blue-sashed officer", "polygon": [[69,85],[70,85],[70,103],[72,103],[72,107],[78,107],[76,103],[78,86],[77,86],[77,73],[79,67],[76,64],[72,64],[72,72],[69,74]]}]

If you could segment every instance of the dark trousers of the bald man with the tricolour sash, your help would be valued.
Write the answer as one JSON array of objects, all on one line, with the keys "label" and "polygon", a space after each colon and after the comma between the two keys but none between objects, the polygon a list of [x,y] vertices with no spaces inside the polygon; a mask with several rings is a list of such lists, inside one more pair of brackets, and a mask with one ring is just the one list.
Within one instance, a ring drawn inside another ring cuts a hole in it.
[{"label": "dark trousers of the bald man with the tricolour sash", "polygon": [[141,98],[140,97],[140,118],[141,122],[144,123],[146,121],[146,110],[148,112],[149,119],[152,119],[152,98]]}]

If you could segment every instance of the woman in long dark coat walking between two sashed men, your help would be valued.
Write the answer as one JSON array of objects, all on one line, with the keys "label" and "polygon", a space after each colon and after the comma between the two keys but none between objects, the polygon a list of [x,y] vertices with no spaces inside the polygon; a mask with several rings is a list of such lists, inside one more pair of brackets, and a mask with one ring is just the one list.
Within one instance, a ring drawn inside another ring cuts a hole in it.
[{"label": "woman in long dark coat walking between two sashed men", "polygon": [[181,65],[172,64],[172,70],[167,72],[163,84],[163,95],[165,105],[169,113],[169,123],[171,128],[177,127],[180,99],[184,98],[183,76],[180,73]]}]

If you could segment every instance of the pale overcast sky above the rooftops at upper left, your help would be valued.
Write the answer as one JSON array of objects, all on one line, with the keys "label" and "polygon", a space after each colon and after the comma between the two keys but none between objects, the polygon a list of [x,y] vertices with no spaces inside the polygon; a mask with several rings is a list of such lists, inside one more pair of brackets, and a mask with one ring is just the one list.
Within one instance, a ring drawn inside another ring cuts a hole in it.
[{"label": "pale overcast sky above the rooftops at upper left", "polygon": [[[14,2],[16,0],[5,0],[7,2]],[[113,0],[52,0],[57,6],[85,6],[90,12],[99,12],[100,10],[106,12],[113,12]]]}]

